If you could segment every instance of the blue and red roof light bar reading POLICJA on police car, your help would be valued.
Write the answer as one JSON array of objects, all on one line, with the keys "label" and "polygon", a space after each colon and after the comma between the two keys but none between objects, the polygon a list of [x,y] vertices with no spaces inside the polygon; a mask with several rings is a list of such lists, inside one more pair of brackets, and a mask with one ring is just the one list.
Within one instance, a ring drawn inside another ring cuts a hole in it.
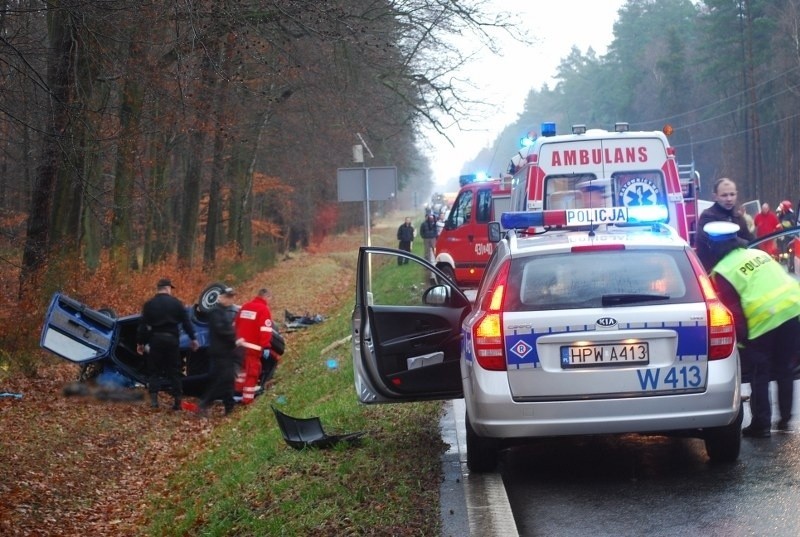
[{"label": "blue and red roof light bar reading POLICJA on police car", "polygon": [[527,229],[548,226],[586,227],[598,224],[651,225],[666,222],[668,218],[669,211],[664,205],[640,205],[507,212],[500,215],[500,223],[505,229]]}]

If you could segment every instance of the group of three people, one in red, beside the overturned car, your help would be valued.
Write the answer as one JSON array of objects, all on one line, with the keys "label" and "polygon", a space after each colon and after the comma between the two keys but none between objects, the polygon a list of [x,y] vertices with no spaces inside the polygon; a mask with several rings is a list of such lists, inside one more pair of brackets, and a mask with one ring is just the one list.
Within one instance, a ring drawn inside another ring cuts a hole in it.
[{"label": "group of three people, one in red, beside the overturned car", "polygon": [[[172,281],[163,278],[156,284],[156,294],[142,307],[136,334],[136,352],[147,360],[150,378],[150,406],[158,408],[158,392],[166,380],[172,390],[173,410],[179,410],[183,399],[183,375],[179,347],[180,328],[191,340],[192,352],[199,348],[197,335],[184,305],[172,295]],[[270,367],[272,314],[269,291],[262,288],[241,308],[234,305],[236,291],[225,288],[208,313],[210,382],[200,399],[198,412],[205,414],[216,400],[221,400],[225,413],[235,406],[235,394],[241,403],[254,401],[261,376],[262,358]]]}]

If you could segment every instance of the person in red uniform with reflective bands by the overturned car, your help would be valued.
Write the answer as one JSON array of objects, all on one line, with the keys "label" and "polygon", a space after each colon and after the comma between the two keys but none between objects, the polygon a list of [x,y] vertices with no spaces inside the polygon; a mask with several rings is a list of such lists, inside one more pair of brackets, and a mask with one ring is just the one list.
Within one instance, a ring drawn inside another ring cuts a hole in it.
[{"label": "person in red uniform with reflective bands by the overturned car", "polygon": [[270,293],[266,288],[236,314],[236,343],[244,348],[244,367],[236,377],[235,391],[242,394],[242,404],[248,405],[256,397],[258,378],[261,376],[261,357],[269,355],[272,344],[272,313],[269,310]]}]

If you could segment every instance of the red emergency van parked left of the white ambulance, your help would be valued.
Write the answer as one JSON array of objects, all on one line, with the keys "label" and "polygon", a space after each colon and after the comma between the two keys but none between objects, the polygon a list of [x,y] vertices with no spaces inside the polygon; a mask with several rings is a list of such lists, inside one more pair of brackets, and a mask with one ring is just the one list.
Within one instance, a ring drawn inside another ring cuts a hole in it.
[{"label": "red emergency van parked left of the white ambulance", "polygon": [[477,287],[494,244],[488,224],[511,210],[511,177],[462,175],[461,188],[436,238],[436,266],[459,287]]}]

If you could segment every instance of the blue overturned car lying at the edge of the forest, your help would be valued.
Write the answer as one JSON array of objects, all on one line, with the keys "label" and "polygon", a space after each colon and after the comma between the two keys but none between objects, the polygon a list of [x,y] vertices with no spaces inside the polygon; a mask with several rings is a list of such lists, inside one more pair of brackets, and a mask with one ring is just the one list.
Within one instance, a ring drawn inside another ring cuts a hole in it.
[{"label": "blue overturned car lying at the edge of the forest", "polygon": [[[181,329],[180,349],[183,392],[201,396],[210,381],[207,316],[227,287],[214,283],[187,307],[200,348],[192,352],[189,336]],[[120,387],[144,385],[149,378],[146,360],[136,353],[136,331],[140,314],[117,317],[109,309],[92,309],[62,293],[55,293],[47,308],[39,344],[42,348],[80,366],[78,380],[105,380]],[[273,332],[269,358],[262,359],[258,393],[266,388],[286,343],[277,329]],[[165,385],[168,385],[166,383]]]}]

